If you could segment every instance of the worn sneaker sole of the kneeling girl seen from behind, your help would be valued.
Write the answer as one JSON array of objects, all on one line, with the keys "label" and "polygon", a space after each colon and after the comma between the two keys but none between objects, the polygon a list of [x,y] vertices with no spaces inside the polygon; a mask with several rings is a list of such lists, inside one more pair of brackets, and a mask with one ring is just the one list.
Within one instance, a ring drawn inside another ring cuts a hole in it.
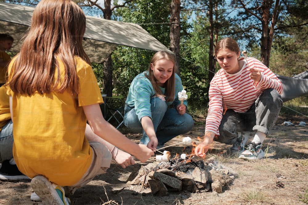
[{"label": "worn sneaker sole of the kneeling girl seen from behind", "polygon": [[31,187],[33,191],[39,196],[43,204],[54,205],[61,204],[64,205],[63,201],[60,199],[57,191],[51,185],[51,183],[43,176],[35,176],[31,180]]}]

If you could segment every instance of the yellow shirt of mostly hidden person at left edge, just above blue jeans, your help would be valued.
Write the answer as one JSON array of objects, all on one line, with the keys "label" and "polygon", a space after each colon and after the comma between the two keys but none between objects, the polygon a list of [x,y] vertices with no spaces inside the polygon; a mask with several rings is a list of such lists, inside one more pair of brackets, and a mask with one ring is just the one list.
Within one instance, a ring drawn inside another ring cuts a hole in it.
[{"label": "yellow shirt of mostly hidden person at left edge, just above blue jeans", "polygon": [[6,94],[6,88],[0,87],[0,131],[11,120],[10,97]]}]

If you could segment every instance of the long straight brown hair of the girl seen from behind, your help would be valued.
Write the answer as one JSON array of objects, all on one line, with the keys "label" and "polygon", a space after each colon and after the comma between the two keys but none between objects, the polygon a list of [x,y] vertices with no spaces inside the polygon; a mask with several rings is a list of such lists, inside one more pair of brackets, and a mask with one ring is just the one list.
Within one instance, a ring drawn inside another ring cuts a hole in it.
[{"label": "long straight brown hair of the girl seen from behind", "polygon": [[[77,95],[79,83],[74,57],[79,56],[91,65],[82,47],[85,29],[86,17],[73,1],[39,2],[10,73],[8,85],[13,92],[31,95],[35,91],[63,93],[68,89]],[[63,79],[59,61],[65,68]]]}]

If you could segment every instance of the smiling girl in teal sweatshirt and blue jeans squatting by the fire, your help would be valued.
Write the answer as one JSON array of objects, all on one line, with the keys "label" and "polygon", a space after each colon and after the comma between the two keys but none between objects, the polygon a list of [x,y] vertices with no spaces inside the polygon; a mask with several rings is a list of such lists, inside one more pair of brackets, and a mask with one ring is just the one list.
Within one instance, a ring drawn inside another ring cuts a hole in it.
[{"label": "smiling girl in teal sweatshirt and blue jeans squatting by the fire", "polygon": [[178,98],[182,90],[173,56],[166,51],[155,53],[148,71],[132,81],[124,108],[124,124],[143,133],[140,144],[159,149],[193,128],[193,118],[186,113],[187,100],[181,105]]}]

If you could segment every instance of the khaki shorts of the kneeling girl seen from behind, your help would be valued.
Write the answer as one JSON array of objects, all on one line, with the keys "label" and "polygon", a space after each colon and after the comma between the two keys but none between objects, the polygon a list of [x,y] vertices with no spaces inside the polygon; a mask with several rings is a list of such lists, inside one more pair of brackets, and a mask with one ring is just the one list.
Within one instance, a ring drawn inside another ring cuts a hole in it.
[{"label": "khaki shorts of the kneeling girl seen from behind", "polygon": [[112,155],[108,148],[95,141],[89,141],[90,147],[92,149],[92,163],[83,177],[71,187],[65,187],[65,191],[69,191],[69,194],[74,194],[74,192],[89,183],[96,175],[106,173],[107,169],[110,168]]}]

